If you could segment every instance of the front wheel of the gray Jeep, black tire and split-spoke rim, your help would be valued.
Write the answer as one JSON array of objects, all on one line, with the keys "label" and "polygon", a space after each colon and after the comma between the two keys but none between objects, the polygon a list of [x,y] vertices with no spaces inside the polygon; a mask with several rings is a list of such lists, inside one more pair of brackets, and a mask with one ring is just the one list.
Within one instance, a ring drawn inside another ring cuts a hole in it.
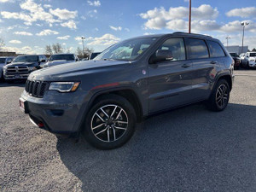
[{"label": "front wheel of the gray Jeep, black tire and split-spoke rim", "polygon": [[[115,108],[115,106],[118,107]],[[102,112],[101,108],[105,113]],[[100,119],[96,113],[99,114],[102,119]],[[106,116],[106,113],[108,116]],[[113,120],[111,120],[111,117],[113,117]],[[127,122],[125,124],[119,124],[117,121]],[[94,106],[90,108],[85,118],[82,134],[85,140],[96,148],[119,148],[131,139],[135,131],[135,125],[136,113],[131,103],[122,96],[109,94],[101,96],[95,102]],[[99,127],[95,128],[97,126]]]}]

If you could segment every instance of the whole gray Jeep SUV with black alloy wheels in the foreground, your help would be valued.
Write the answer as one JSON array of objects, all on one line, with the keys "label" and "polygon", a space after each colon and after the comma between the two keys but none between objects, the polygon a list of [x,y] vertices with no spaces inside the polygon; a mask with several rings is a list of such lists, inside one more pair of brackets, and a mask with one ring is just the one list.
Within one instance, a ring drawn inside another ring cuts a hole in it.
[{"label": "whole gray Jeep SUV with black alloy wheels in the foreground", "polygon": [[81,133],[96,148],[117,148],[149,114],[201,101],[224,110],[233,68],[215,38],[184,32],[131,38],[92,61],[31,73],[20,108],[44,130]]}]

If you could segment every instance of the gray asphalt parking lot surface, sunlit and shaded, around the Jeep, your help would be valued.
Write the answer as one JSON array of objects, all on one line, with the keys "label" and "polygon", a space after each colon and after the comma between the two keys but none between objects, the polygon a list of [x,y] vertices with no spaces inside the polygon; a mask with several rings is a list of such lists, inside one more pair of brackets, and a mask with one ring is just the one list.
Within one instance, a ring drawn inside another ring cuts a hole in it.
[{"label": "gray asphalt parking lot surface, sunlit and shaded, around the Jeep", "polygon": [[230,104],[151,117],[102,151],[34,127],[24,84],[0,84],[1,191],[256,191],[256,70],[236,71]]}]

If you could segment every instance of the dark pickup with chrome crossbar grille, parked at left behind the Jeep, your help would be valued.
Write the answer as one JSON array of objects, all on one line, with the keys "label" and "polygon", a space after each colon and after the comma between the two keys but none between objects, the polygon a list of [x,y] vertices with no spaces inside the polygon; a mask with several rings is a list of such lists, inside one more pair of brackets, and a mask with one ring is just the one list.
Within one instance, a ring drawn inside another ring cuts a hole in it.
[{"label": "dark pickup with chrome crossbar grille, parked at left behind the Jeep", "polygon": [[27,79],[28,75],[40,68],[46,61],[45,55],[20,55],[3,67],[3,78],[12,82],[16,79]]}]

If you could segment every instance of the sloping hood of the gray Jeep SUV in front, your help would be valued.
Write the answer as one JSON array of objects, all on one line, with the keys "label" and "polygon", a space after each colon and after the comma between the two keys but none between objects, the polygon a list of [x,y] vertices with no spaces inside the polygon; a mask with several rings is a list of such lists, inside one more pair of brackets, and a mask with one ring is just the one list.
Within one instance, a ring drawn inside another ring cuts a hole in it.
[{"label": "sloping hood of the gray Jeep SUV in front", "polygon": [[29,79],[60,80],[66,78],[78,79],[86,73],[96,73],[96,70],[106,70],[106,67],[118,67],[131,63],[130,61],[80,61],[56,67],[46,67],[37,70],[29,76]]}]

